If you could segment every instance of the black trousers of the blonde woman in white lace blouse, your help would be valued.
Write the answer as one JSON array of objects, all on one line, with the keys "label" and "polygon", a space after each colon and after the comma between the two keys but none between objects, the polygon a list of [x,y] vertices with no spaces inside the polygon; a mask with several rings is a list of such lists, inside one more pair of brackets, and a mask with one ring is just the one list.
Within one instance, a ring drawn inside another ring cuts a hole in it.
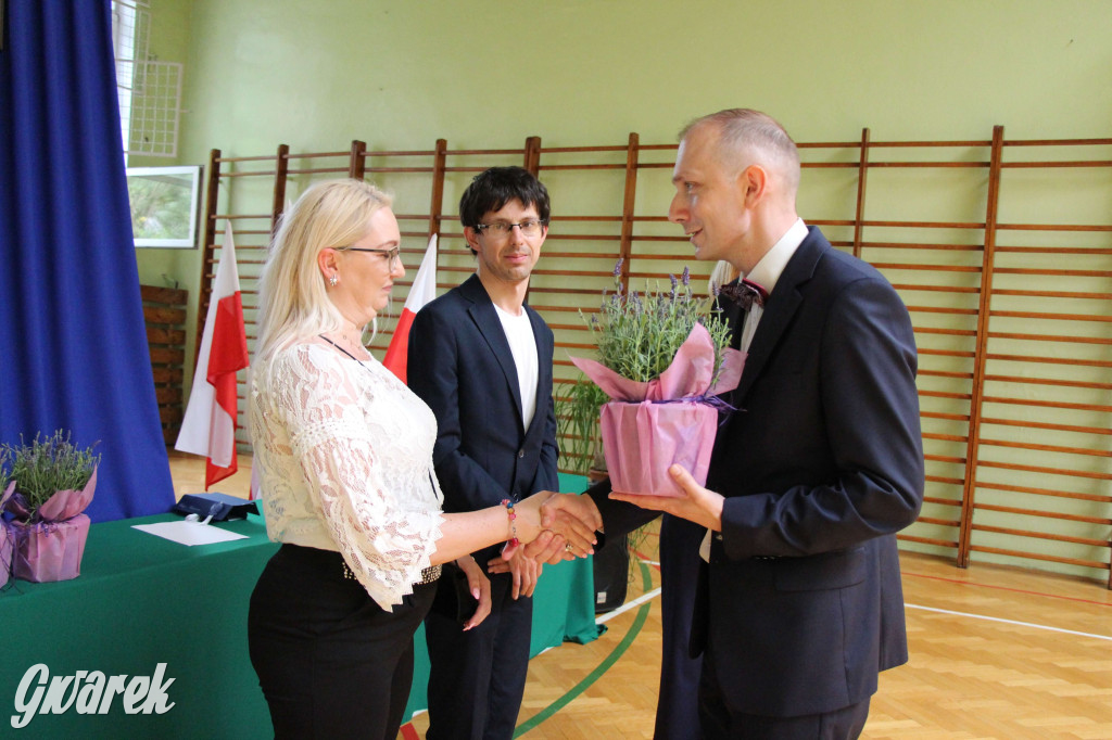
[{"label": "black trousers of the blonde woman in white lace blouse", "polygon": [[414,632],[436,584],[393,612],[344,577],[338,552],[284,544],[251,593],[251,666],[276,738],[394,740],[413,683]]}]

